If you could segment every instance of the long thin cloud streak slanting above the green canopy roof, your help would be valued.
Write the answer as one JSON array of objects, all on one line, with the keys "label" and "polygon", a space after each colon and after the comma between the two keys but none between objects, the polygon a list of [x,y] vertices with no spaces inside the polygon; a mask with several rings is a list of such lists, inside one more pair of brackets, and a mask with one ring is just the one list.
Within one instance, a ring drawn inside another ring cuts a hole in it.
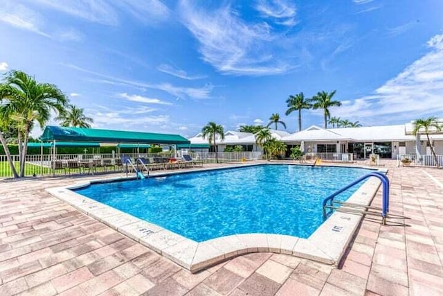
[{"label": "long thin cloud streak slanting above the green canopy roof", "polygon": [[105,78],[96,80],[96,82],[102,82],[107,84],[123,84],[131,87],[137,88],[149,88],[149,89],[160,89],[163,92],[168,92],[168,94],[172,94],[172,96],[176,96],[178,98],[209,98],[210,93],[213,91],[213,85],[206,85],[204,87],[195,88],[195,87],[176,87],[171,85],[170,83],[160,83],[160,84],[150,84],[145,82],[138,82],[134,80],[127,80],[122,78],[117,78],[114,76],[109,76],[106,74],[98,73],[96,71],[91,71],[88,69],[83,69],[81,67],[75,66],[74,64],[64,64],[60,63],[64,67],[68,67],[71,69],[75,69],[77,71],[82,71],[84,73],[89,73],[94,76],[98,76],[100,78]]}]

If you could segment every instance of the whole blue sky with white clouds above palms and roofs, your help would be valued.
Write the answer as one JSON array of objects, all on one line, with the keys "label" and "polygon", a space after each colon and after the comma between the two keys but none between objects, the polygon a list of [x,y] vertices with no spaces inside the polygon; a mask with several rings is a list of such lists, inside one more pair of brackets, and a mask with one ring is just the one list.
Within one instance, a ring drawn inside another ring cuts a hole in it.
[{"label": "whole blue sky with white clouds above palms and roofs", "polygon": [[58,85],[97,128],[190,137],[278,112],[293,132],[287,97],[334,89],[332,116],[404,123],[443,117],[442,11],[440,0],[0,0],[0,71]]}]

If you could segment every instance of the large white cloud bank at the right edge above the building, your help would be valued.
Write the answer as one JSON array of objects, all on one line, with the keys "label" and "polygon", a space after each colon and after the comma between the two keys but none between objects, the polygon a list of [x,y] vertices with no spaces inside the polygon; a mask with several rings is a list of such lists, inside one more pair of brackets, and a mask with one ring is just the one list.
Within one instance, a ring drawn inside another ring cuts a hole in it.
[{"label": "large white cloud bank at the right edge above the building", "polygon": [[[443,112],[443,34],[428,41],[429,51],[374,91],[334,110],[334,116],[401,121]],[[438,115],[437,115],[438,116]]]}]

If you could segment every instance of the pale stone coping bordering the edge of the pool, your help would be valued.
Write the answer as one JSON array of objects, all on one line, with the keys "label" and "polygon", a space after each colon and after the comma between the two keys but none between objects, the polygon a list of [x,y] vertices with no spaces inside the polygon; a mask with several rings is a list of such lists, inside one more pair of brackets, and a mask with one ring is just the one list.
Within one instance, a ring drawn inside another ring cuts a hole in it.
[{"label": "pale stone coping bordering the edge of the pool", "polygon": [[[273,164],[290,164],[271,162]],[[242,168],[247,166],[263,165],[238,164],[228,168]],[[372,171],[387,172],[385,168],[374,168],[367,166],[341,166],[351,168],[367,168]],[[182,173],[193,173],[199,171],[217,171],[221,168],[198,168],[192,171],[174,171],[150,173],[150,177],[161,177],[165,175],[176,175]],[[101,223],[116,229],[118,232],[129,236],[151,250],[167,257],[183,268],[194,273],[211,265],[232,259],[235,256],[253,252],[273,252],[290,254],[293,256],[311,259],[330,265],[338,265],[352,236],[358,227],[362,216],[334,212],[309,238],[298,238],[296,236],[282,234],[235,234],[213,238],[204,242],[196,242],[168,229],[136,218],[106,204],[97,202],[84,195],[71,191],[94,183],[116,182],[132,180],[135,177],[111,177],[100,180],[82,180],[74,184],[46,189],[48,193],[56,198],[71,204],[84,214],[99,220]],[[377,177],[370,177],[356,192],[347,200],[358,204],[368,205],[376,195],[381,182]]]}]

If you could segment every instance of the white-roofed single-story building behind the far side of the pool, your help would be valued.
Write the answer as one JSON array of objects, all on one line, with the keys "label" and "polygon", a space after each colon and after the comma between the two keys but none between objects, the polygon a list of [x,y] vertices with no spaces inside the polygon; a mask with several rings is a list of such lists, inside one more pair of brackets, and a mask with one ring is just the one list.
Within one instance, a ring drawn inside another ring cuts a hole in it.
[{"label": "white-roofed single-story building behind the far side of the pool", "polygon": [[[443,123],[443,119],[441,120]],[[287,157],[290,148],[300,146],[304,153],[352,153],[354,159],[365,159],[376,153],[381,158],[397,158],[397,155],[431,155],[426,134],[413,134],[413,121],[401,125],[365,126],[361,128],[320,128],[312,125],[300,132],[289,134],[271,130],[275,139],[287,143]],[[443,131],[429,132],[437,155],[443,155]],[[191,143],[208,143],[201,134],[189,139]],[[246,132],[228,131],[225,139],[217,139],[218,151],[228,146],[241,145],[245,151],[260,151],[255,136]]]}]

